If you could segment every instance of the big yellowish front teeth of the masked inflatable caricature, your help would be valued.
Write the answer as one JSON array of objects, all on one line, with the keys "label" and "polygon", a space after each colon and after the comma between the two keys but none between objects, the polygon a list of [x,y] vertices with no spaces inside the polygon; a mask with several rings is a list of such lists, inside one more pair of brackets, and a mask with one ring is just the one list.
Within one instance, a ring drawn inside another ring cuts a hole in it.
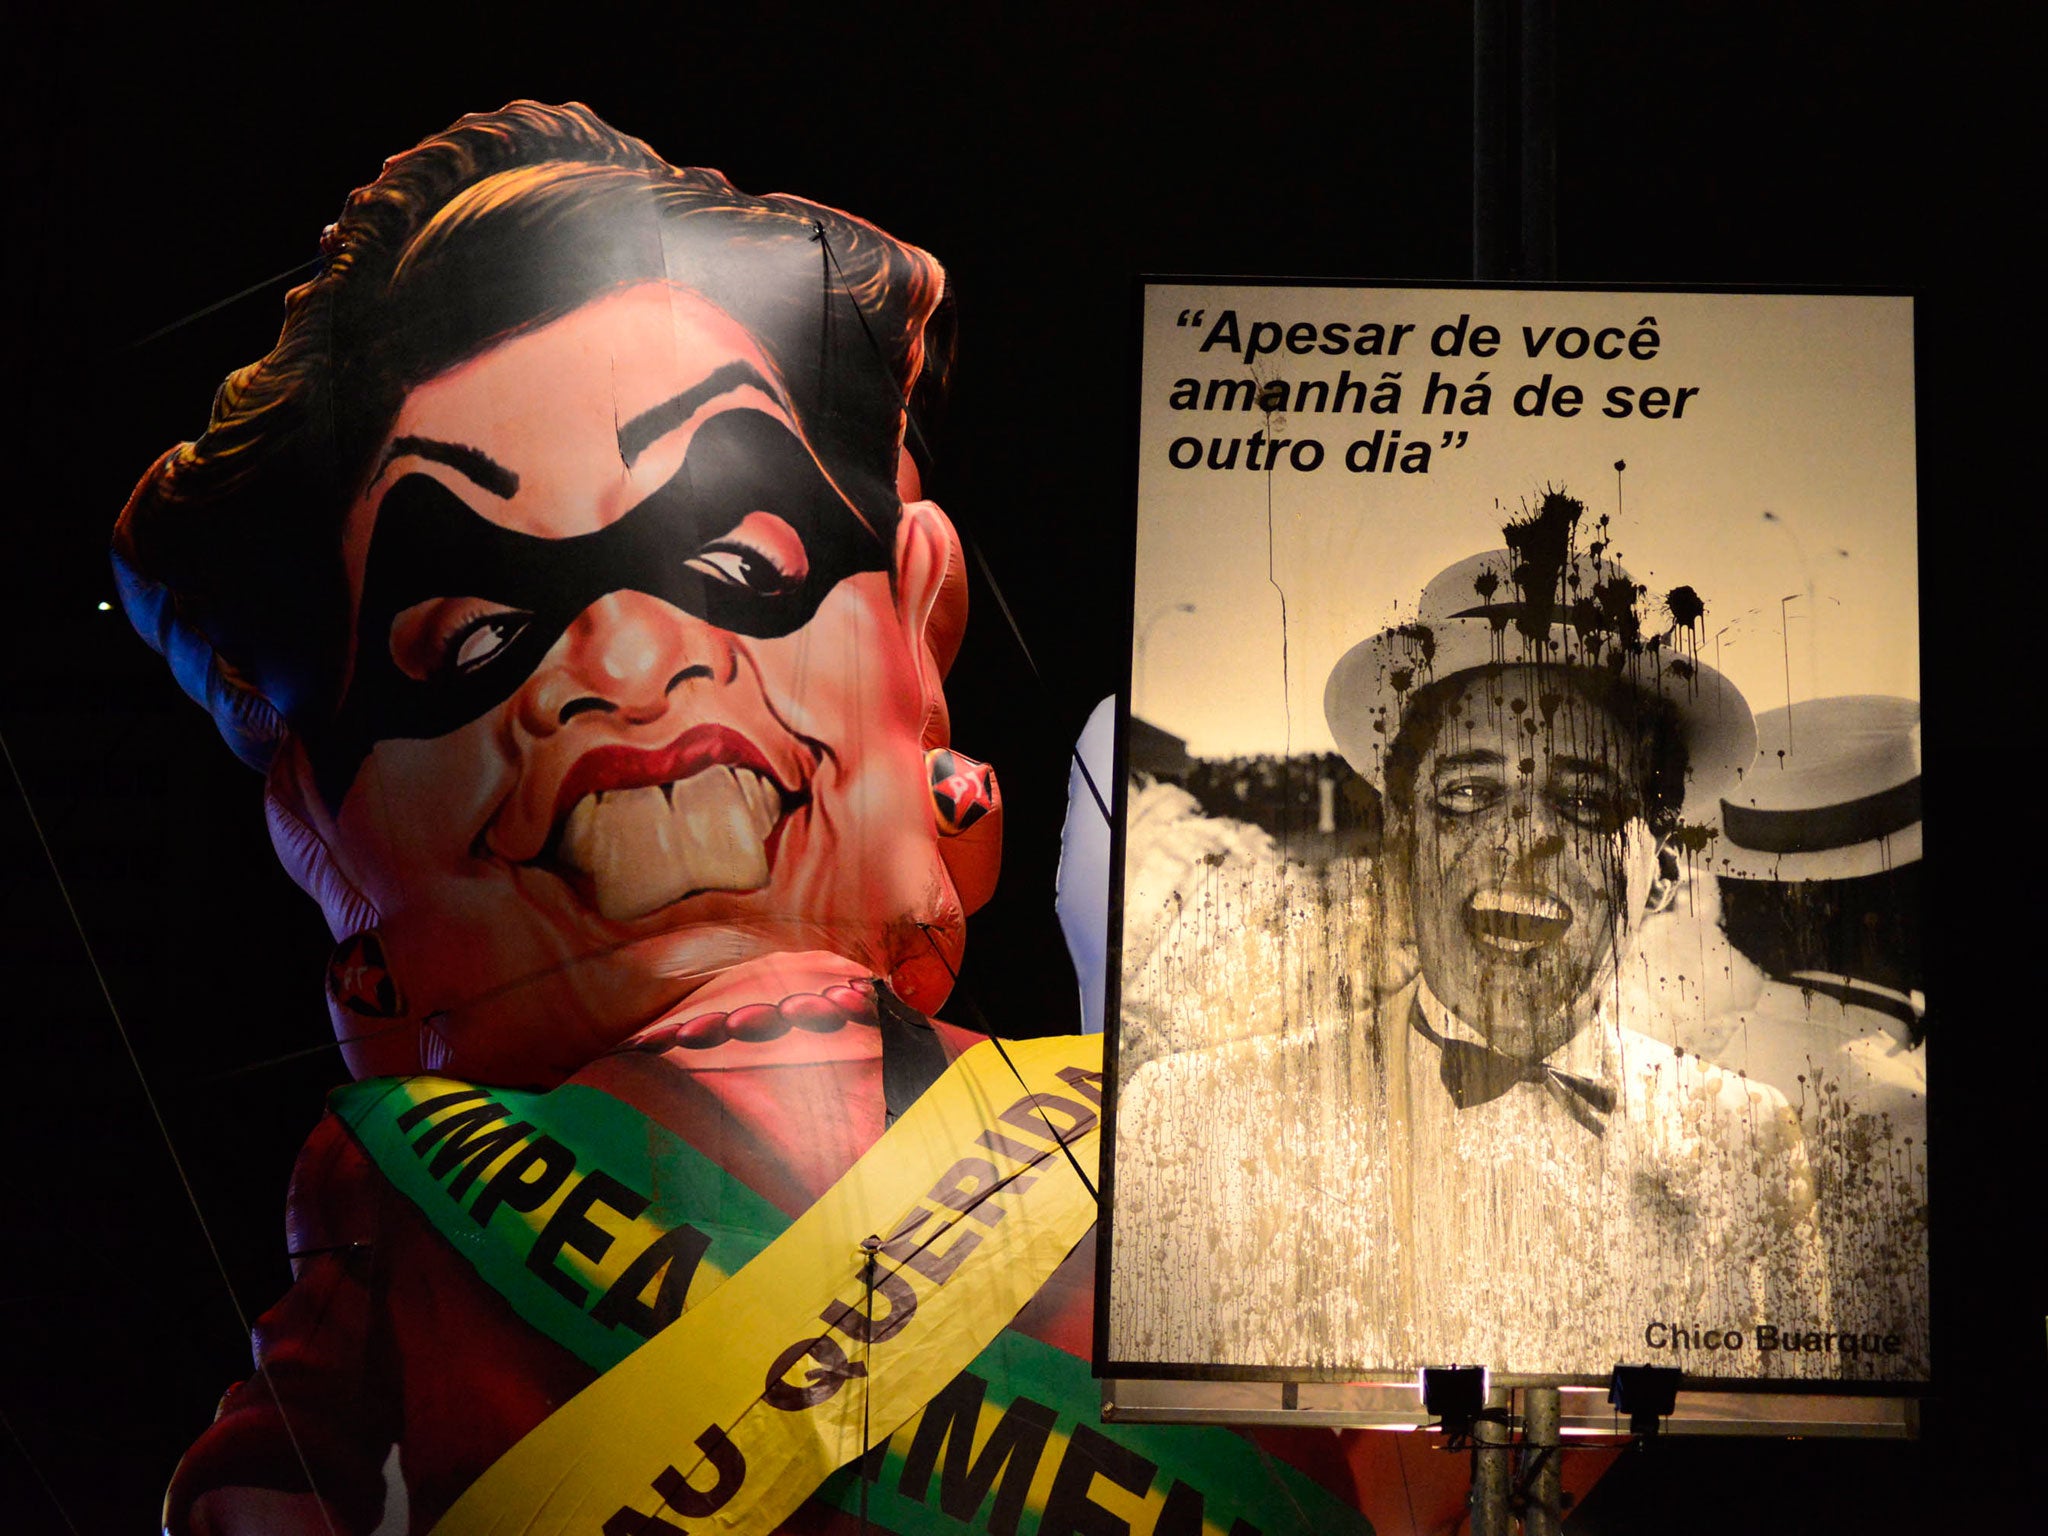
[{"label": "big yellowish front teeth of the masked inflatable caricature", "polygon": [[586,795],[561,831],[561,862],[590,877],[598,913],[625,922],[698,891],[768,883],[782,791],[750,768],[705,768],[674,784]]}]

